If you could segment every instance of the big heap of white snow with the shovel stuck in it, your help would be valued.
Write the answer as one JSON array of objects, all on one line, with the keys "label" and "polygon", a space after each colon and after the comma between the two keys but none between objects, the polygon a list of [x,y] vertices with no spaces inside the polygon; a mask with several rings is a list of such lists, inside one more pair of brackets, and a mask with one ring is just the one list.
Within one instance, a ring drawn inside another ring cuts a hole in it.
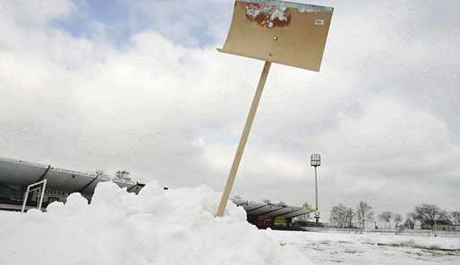
[{"label": "big heap of white snow with the shovel stuck in it", "polygon": [[90,205],[72,194],[47,213],[0,212],[0,264],[311,264],[233,203],[214,218],[217,200],[204,186],[163,191],[151,183],[133,195],[106,182]]}]

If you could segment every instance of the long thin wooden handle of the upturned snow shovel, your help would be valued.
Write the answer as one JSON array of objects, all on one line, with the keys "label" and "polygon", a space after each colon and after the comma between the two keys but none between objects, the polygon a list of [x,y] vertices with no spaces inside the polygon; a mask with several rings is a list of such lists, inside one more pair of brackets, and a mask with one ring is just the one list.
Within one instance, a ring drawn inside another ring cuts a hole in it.
[{"label": "long thin wooden handle of the upturned snow shovel", "polygon": [[236,177],[236,172],[238,171],[240,161],[243,157],[244,146],[246,146],[246,142],[248,141],[252,122],[254,121],[254,117],[256,116],[257,107],[259,106],[260,102],[260,96],[262,95],[263,87],[265,86],[265,82],[267,81],[270,66],[271,62],[265,62],[263,66],[263,70],[259,79],[259,85],[257,86],[256,94],[252,99],[251,109],[249,111],[248,118],[246,118],[246,123],[244,124],[243,134],[240,137],[238,149],[236,149],[236,153],[234,154],[234,162],[232,163],[232,168],[230,169],[228,178],[226,179],[226,187],[224,189],[222,197],[220,198],[220,203],[218,205],[216,213],[217,217],[224,216],[224,211],[226,211],[226,203],[228,202],[228,198],[230,197],[230,193],[232,192],[232,188],[234,186],[234,178]]}]

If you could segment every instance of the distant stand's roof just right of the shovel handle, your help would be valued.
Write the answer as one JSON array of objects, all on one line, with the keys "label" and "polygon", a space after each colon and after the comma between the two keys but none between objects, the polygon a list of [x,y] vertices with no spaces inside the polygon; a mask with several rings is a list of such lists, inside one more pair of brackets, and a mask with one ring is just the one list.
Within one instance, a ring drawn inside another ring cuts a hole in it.
[{"label": "distant stand's roof just right of the shovel handle", "polygon": [[258,203],[243,199],[232,199],[236,206],[242,206],[247,215],[293,218],[315,211],[312,208],[289,206],[280,203]]}]

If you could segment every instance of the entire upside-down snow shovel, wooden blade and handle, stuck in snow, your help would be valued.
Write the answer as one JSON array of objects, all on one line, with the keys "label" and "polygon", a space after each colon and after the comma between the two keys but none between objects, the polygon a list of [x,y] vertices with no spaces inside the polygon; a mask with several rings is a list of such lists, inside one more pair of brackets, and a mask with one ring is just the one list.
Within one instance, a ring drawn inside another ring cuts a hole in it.
[{"label": "entire upside-down snow shovel, wooden blade and handle, stuck in snow", "polygon": [[224,215],[271,62],[319,71],[333,11],[332,7],[284,1],[235,1],[226,43],[217,50],[265,64],[216,216]]}]

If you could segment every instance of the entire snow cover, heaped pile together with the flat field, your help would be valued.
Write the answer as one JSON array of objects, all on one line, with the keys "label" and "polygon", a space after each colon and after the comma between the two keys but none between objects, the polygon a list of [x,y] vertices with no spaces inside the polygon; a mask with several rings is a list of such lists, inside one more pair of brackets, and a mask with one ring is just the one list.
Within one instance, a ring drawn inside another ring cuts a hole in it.
[{"label": "entire snow cover, heaped pile together with the flat field", "polygon": [[47,212],[0,211],[0,265],[460,264],[460,239],[258,230],[206,186],[98,184]]}]

